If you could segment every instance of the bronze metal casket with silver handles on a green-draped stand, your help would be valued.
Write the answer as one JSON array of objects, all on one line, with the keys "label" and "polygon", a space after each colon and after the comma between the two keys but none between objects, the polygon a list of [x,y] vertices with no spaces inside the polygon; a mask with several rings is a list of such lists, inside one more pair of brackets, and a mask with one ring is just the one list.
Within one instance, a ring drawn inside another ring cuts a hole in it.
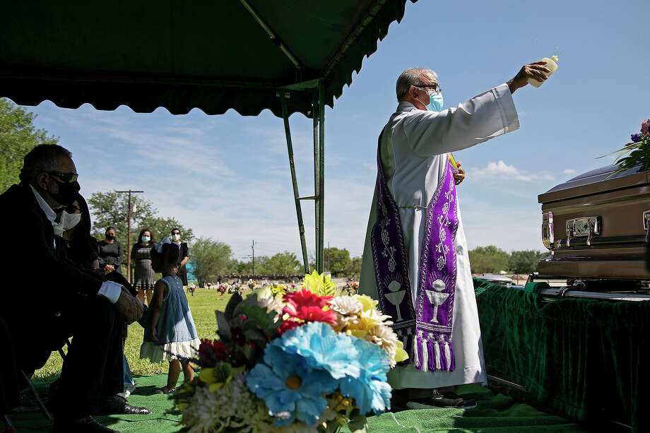
[{"label": "bronze metal casket with silver handles on a green-draped stand", "polygon": [[635,167],[613,174],[617,168],[591,170],[538,196],[550,251],[538,263],[540,278],[650,280],[649,172]]}]

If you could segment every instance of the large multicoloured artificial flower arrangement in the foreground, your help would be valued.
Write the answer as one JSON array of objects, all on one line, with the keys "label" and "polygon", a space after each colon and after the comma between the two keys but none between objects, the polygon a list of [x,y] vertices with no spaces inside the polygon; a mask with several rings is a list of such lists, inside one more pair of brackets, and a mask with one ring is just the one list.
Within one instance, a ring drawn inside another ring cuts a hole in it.
[{"label": "large multicoloured artificial flower arrangement in the foreground", "polygon": [[386,373],[408,355],[370,297],[314,272],[215,314],[220,339],[201,340],[201,373],[172,397],[184,432],[362,432],[390,408]]}]

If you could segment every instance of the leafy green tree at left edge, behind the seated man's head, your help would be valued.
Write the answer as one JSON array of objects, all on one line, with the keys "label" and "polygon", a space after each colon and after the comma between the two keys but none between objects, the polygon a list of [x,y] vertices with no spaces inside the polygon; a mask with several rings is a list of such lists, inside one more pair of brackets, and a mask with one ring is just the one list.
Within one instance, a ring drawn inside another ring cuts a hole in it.
[{"label": "leafy green tree at left edge, behind the seated man's head", "polygon": [[59,138],[47,135],[34,126],[36,114],[0,97],[0,194],[20,182],[23,157],[42,143],[58,143]]}]

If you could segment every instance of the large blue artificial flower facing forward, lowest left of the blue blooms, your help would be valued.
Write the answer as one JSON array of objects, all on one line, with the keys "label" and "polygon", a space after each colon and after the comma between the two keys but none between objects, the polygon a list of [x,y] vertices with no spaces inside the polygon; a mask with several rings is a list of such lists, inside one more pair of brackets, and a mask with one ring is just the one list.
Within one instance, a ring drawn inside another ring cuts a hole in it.
[{"label": "large blue artificial flower facing forward, lowest left of the blue blooms", "polygon": [[276,417],[278,427],[296,418],[309,425],[317,422],[327,406],[323,394],[338,386],[324,369],[309,368],[300,355],[285,352],[280,338],[266,345],[264,362],[251,370],[246,384]]}]

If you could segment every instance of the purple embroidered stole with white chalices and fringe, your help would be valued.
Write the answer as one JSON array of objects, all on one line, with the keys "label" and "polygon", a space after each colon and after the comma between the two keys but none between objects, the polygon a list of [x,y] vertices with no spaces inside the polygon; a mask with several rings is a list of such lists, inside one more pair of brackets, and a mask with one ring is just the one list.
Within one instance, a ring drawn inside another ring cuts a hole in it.
[{"label": "purple embroidered stole with white chalices and fringe", "polygon": [[[379,149],[381,149],[381,136]],[[451,326],[456,290],[456,184],[449,162],[427,206],[420,255],[420,285],[416,305],[411,299],[408,254],[399,208],[386,184],[377,150],[377,222],[370,233],[379,304],[393,317],[393,329],[423,372],[454,371]],[[423,208],[424,209],[424,208]],[[413,209],[416,212],[418,209]]]}]

